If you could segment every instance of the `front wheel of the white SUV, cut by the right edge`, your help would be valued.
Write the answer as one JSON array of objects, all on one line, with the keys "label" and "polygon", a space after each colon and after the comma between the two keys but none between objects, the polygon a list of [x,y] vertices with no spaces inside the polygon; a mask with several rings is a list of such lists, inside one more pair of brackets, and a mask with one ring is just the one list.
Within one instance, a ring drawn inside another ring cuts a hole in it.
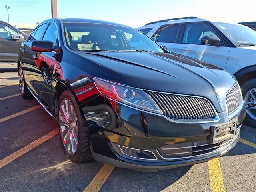
[{"label": "front wheel of the white SUV, cut by the right edge", "polygon": [[[246,123],[249,126],[252,126],[254,128],[256,128],[256,109],[251,109],[248,110],[246,103],[249,101],[254,100],[254,106],[255,104],[255,98],[256,98],[256,78],[250,79],[246,82],[244,82],[244,84],[242,84],[241,86],[241,90],[242,90],[242,95],[244,98],[244,104],[246,106],[246,117],[244,119],[244,123]],[[250,94],[250,92],[252,92],[253,95],[255,95],[254,99],[252,97],[252,95]],[[253,106],[253,104],[251,104],[250,106]]]}]

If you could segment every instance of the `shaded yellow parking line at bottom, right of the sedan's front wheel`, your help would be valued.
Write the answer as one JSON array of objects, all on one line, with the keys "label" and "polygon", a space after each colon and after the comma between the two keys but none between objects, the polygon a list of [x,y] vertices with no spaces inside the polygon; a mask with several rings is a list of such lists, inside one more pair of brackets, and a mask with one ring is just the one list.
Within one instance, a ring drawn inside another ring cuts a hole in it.
[{"label": "shaded yellow parking line at bottom, right of the sedan's front wheel", "polygon": [[114,168],[113,166],[104,164],[89,185],[84,189],[84,192],[98,192]]}]

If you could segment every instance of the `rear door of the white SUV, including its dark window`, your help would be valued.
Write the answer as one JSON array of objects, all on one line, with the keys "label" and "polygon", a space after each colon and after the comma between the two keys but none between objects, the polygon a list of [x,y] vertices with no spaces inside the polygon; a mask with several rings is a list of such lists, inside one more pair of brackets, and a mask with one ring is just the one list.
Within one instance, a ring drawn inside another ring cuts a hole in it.
[{"label": "rear door of the white SUV, including its dark window", "polygon": [[180,37],[180,31],[181,24],[163,25],[151,38],[161,46],[166,46],[168,51],[175,52]]}]

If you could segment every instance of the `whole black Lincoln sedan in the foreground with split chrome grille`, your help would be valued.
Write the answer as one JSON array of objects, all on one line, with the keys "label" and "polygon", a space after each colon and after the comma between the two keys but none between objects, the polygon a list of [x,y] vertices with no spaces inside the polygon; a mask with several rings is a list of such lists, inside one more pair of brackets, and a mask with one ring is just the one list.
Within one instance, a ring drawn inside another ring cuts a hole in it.
[{"label": "whole black Lincoln sedan in the foreground with split chrome grille", "polygon": [[234,147],[245,117],[234,76],[112,22],[42,22],[21,44],[18,73],[21,96],[56,119],[72,162],[134,170],[206,162]]}]

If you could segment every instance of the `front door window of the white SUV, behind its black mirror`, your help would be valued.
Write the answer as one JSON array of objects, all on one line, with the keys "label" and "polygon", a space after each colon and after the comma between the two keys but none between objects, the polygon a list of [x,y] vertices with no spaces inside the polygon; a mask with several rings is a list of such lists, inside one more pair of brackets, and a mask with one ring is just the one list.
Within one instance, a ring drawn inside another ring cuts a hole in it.
[{"label": "front door window of the white SUV, behind its black mirror", "polygon": [[201,44],[201,38],[206,35],[216,36],[212,29],[204,23],[189,23],[186,25],[182,43]]}]

